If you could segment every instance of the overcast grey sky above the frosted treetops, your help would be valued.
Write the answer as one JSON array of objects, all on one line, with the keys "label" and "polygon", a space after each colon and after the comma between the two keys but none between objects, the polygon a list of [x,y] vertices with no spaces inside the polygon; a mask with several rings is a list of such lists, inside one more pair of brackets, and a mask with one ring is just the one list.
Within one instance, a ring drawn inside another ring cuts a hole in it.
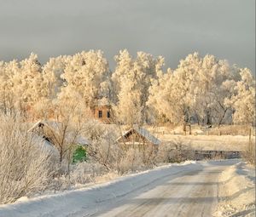
[{"label": "overcast grey sky above the frosted treetops", "polygon": [[0,0],[0,60],[102,49],[163,55],[198,51],[255,73],[255,0]]}]

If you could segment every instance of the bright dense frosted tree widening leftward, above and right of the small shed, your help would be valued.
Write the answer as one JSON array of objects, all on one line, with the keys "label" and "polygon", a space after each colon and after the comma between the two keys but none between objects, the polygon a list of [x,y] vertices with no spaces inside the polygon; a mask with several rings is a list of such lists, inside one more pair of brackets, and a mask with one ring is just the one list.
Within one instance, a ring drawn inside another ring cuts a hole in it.
[{"label": "bright dense frosted tree widening leftward, above and right of the small shed", "polygon": [[148,105],[171,123],[189,123],[191,108],[195,104],[193,81],[200,66],[197,53],[181,60],[177,70],[160,73],[159,80],[150,88]]}]

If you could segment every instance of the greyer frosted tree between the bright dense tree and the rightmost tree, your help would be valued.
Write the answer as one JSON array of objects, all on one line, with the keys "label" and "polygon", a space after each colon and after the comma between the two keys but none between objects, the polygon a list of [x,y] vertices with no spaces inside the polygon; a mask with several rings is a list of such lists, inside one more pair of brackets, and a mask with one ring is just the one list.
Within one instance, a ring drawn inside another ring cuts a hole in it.
[{"label": "greyer frosted tree between the bright dense tree and the rightmost tree", "polygon": [[221,124],[230,114],[230,106],[224,101],[234,94],[237,69],[226,60],[218,60],[207,54],[201,59],[201,66],[194,80],[194,110],[198,121]]}]

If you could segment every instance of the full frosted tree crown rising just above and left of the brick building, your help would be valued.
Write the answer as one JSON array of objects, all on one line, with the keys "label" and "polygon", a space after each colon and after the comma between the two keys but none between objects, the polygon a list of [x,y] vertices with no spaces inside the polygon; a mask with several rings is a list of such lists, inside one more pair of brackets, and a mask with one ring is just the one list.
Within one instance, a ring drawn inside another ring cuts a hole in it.
[{"label": "full frosted tree crown rising just above and left of the brick building", "polygon": [[104,89],[108,87],[108,77],[108,61],[102,51],[83,51],[67,61],[64,73],[61,74],[61,79],[65,81],[61,94],[77,93],[85,106],[93,107],[108,92]]}]

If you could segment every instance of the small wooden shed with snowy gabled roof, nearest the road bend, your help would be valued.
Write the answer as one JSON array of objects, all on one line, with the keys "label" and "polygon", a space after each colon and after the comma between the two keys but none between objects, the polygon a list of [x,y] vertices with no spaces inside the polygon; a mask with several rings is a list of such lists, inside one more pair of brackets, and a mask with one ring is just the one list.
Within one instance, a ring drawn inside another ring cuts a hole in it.
[{"label": "small wooden shed with snowy gabled roof, nearest the road bend", "polygon": [[132,146],[154,146],[160,145],[160,140],[150,134],[147,129],[140,127],[133,127],[122,134],[118,140],[118,143],[123,143],[125,145]]}]

